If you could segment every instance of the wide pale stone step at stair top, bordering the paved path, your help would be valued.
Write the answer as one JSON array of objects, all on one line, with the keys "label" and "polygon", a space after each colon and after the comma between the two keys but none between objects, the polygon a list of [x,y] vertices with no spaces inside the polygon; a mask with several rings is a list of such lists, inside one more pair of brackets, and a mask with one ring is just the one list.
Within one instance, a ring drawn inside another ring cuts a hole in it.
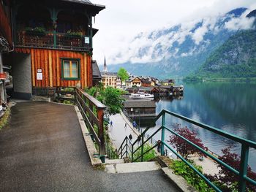
[{"label": "wide pale stone step at stair top, bordering the paved path", "polygon": [[127,164],[108,164],[106,172],[108,173],[131,173],[131,172],[148,172],[161,169],[161,166],[155,161],[138,162]]}]

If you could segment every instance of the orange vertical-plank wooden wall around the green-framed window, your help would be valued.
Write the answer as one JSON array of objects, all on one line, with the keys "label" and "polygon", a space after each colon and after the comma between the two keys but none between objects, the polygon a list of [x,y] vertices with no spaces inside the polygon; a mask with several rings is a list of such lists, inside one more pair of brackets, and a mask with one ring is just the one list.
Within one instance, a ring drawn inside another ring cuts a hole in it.
[{"label": "orange vertical-plank wooden wall around the green-framed window", "polygon": [[[31,79],[33,87],[76,86],[91,87],[91,56],[67,50],[16,48],[16,52],[31,54]],[[80,59],[80,80],[61,80],[61,58]],[[37,80],[37,69],[42,69],[42,80]]]}]

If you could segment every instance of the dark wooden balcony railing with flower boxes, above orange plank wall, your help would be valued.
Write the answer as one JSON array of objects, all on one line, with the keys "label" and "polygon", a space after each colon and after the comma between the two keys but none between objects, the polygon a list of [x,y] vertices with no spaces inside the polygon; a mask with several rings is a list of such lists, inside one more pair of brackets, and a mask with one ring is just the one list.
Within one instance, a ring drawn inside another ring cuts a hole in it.
[{"label": "dark wooden balcony railing with flower boxes, above orange plank wall", "polygon": [[88,38],[86,36],[54,32],[19,31],[15,45],[20,47],[89,51],[91,50],[91,45],[86,43]]}]

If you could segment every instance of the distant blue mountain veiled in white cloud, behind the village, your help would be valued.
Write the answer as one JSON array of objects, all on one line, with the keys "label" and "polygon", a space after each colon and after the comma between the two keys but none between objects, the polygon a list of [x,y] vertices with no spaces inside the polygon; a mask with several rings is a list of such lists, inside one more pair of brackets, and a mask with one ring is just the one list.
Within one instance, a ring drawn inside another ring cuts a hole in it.
[{"label": "distant blue mountain veiled in white cloud, behind the village", "polygon": [[121,58],[124,63],[108,65],[108,70],[117,72],[124,67],[138,75],[159,78],[187,76],[196,72],[206,58],[237,31],[252,27],[251,18],[246,18],[247,12],[242,7],[225,15],[140,33],[127,49],[113,56]]}]

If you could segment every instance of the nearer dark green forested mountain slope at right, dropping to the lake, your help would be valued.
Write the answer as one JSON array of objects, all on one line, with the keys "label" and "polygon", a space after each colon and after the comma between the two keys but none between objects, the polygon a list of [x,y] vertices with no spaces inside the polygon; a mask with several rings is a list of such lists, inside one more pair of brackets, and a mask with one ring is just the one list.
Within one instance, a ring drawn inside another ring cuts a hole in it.
[{"label": "nearer dark green forested mountain slope at right, dropping to the lake", "polygon": [[206,59],[200,77],[256,77],[256,30],[238,31]]}]

